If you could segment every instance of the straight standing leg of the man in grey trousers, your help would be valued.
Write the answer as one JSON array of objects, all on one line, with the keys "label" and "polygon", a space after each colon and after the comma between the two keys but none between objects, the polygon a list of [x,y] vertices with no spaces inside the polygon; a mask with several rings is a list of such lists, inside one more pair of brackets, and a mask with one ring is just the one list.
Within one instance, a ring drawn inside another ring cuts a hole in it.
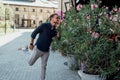
[{"label": "straight standing leg of the man in grey trousers", "polygon": [[45,80],[48,57],[49,52],[44,53],[41,57],[41,80]]}]

